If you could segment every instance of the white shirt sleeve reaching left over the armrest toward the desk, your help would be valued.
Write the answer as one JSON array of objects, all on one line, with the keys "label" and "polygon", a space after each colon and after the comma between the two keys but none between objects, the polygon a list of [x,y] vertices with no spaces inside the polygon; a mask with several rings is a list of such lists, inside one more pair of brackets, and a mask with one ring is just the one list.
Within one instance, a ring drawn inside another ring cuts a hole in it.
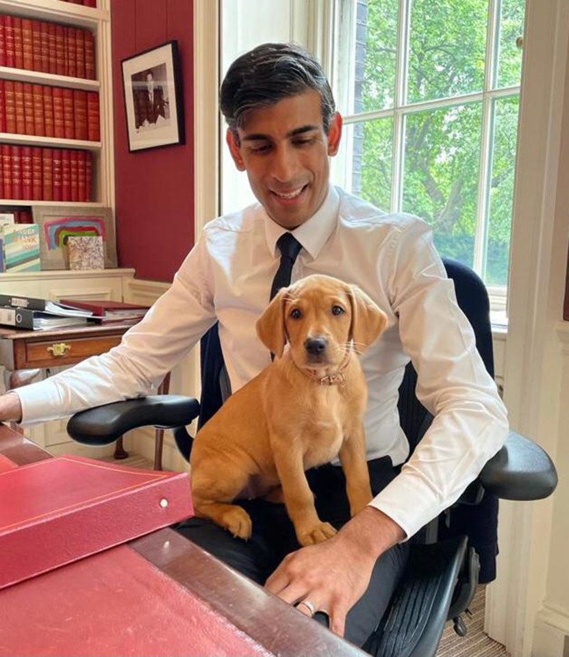
[{"label": "white shirt sleeve reaching left over the armrest toward the desk", "polygon": [[151,394],[214,324],[208,270],[204,240],[190,251],[171,287],[125,333],[120,345],[45,381],[14,389],[22,404],[22,424]]}]

